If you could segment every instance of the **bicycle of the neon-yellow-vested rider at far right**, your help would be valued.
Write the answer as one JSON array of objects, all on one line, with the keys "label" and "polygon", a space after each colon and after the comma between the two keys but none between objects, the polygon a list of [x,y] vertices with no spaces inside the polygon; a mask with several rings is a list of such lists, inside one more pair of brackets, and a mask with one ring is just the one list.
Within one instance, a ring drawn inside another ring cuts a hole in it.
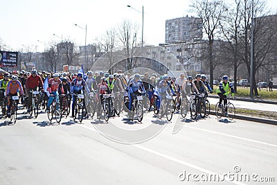
[{"label": "bicycle of the neon-yellow-vested rider at far right", "polygon": [[[227,97],[227,104],[222,106],[219,102],[215,105],[215,115],[217,118],[222,118],[222,116],[228,117],[230,120],[235,118],[235,105],[230,102],[230,96]],[[234,97],[235,99],[235,97]]]}]

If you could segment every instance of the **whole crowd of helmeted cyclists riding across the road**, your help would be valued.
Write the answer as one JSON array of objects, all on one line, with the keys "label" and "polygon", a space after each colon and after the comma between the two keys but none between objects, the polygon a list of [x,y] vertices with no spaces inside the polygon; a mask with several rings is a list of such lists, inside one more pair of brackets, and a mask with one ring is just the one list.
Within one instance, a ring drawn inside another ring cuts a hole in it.
[{"label": "whole crowd of helmeted cyclists riding across the road", "polygon": [[[55,98],[60,102],[62,98],[66,98],[69,105],[72,99],[71,109],[73,110],[78,94],[92,94],[93,92],[95,92],[96,102],[99,104],[102,103],[103,94],[125,92],[125,97],[127,97],[125,105],[129,110],[136,96],[148,96],[150,101],[155,97],[157,112],[159,112],[163,96],[177,96],[176,107],[179,109],[180,96],[187,98],[191,93],[201,94],[207,91],[213,93],[213,89],[206,82],[206,76],[200,74],[197,74],[195,78],[192,76],[185,78],[184,73],[182,73],[176,80],[173,80],[167,74],[160,76],[160,78],[155,73],[151,77],[149,73],[145,73],[143,78],[139,73],[133,76],[128,73],[125,76],[120,70],[114,74],[104,73],[103,71],[71,74],[67,72],[48,73],[33,69],[30,72],[22,70],[20,72],[0,73],[0,79],[0,101],[2,102],[6,97],[7,116],[10,116],[10,97],[15,95],[25,97],[21,102],[25,101],[27,112],[30,112],[32,91],[42,91],[42,94],[44,94],[43,103],[46,104],[47,112]],[[224,104],[227,103],[226,96],[230,93],[230,89],[234,96],[233,84],[229,82],[228,76],[223,76],[222,82],[220,82],[216,91],[220,96],[220,105],[222,100],[224,100]],[[75,112],[72,111],[71,116],[74,117],[74,114]]]}]

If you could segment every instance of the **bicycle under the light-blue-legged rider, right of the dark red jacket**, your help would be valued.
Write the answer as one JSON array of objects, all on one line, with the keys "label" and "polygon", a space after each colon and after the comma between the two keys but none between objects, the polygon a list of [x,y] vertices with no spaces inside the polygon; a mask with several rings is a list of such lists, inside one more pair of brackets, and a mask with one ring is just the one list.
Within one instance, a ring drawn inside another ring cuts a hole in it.
[{"label": "bicycle under the light-blue-legged rider, right of the dark red jacket", "polygon": [[55,95],[55,98],[53,99],[53,102],[51,103],[49,110],[47,111],[47,116],[50,123],[52,123],[54,114],[55,120],[57,121],[57,123],[60,124],[60,121],[62,120],[62,109],[60,107],[59,95]]}]

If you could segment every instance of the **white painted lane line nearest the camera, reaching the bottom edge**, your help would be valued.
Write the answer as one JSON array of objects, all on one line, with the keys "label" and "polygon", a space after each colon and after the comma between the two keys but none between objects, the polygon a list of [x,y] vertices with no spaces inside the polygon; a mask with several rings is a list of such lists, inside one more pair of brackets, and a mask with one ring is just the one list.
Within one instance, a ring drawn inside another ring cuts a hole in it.
[{"label": "white painted lane line nearest the camera, reaching the bottom edge", "polygon": [[[194,164],[190,164],[190,163],[188,163],[188,162],[181,161],[181,160],[179,160],[179,159],[175,159],[174,157],[170,157],[170,156],[165,155],[165,154],[163,154],[163,153],[161,153],[161,152],[157,152],[157,151],[151,150],[151,149],[149,149],[149,148],[145,148],[144,146],[140,146],[140,145],[132,145],[132,146],[134,146],[134,147],[136,147],[136,148],[140,148],[141,150],[145,150],[145,151],[147,151],[147,152],[150,152],[150,153],[152,153],[152,154],[154,154],[154,155],[158,155],[158,156],[160,156],[160,157],[166,158],[166,159],[168,159],[168,160],[170,160],[170,161],[175,161],[175,162],[177,162],[177,163],[179,163],[179,164],[183,164],[183,165],[185,165],[185,166],[189,166],[190,168],[194,168],[194,169],[199,170],[199,171],[202,171],[202,172],[204,172],[204,173],[208,173],[209,175],[218,174],[218,173],[215,173],[215,172],[213,172],[213,171],[207,170],[207,169],[205,169],[205,168],[202,168],[202,167],[199,167],[199,166],[195,166]],[[219,175],[219,174],[218,174],[218,176],[220,177],[220,179],[226,179],[227,181],[229,181],[229,182],[231,182],[231,183],[233,183],[233,184],[244,184],[244,183],[242,183],[242,182],[233,181],[233,180],[231,180],[231,179],[229,179],[229,178],[226,178],[226,177],[224,177],[224,175]]]}]

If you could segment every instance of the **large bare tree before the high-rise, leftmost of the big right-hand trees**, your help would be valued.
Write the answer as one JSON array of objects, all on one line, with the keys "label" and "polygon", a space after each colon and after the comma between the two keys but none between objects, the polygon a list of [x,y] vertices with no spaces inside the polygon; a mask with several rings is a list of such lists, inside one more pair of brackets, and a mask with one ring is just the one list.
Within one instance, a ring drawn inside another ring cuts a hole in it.
[{"label": "large bare tree before the high-rise, leftmost of the big right-hand trees", "polygon": [[[222,19],[222,14],[226,11],[226,7],[221,0],[195,0],[192,8],[197,12],[198,17],[202,18],[203,28],[208,36],[208,63],[210,68],[210,84],[213,88],[213,42],[219,34],[219,24]],[[217,35],[218,34],[218,35]]]}]

